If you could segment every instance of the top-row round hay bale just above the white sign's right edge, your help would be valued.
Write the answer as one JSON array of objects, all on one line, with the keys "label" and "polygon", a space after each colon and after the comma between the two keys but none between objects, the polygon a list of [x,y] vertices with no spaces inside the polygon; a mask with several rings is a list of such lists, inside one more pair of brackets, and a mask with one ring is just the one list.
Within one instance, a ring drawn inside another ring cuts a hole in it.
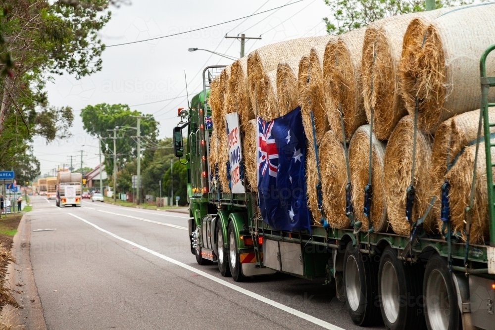
[{"label": "top-row round hay bale just above the white sign's right edge", "polygon": [[252,102],[247,91],[247,56],[244,56],[230,67],[229,107],[238,110],[241,130],[247,126],[249,120],[256,118]]}]

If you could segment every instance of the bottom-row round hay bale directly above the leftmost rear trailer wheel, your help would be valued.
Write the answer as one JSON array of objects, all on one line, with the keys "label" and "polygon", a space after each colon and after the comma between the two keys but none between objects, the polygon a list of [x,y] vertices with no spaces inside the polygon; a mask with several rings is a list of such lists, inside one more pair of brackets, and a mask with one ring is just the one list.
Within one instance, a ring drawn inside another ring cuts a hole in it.
[{"label": "bottom-row round hay bale directly above the leftmost rear trailer wheel", "polygon": [[[364,187],[369,178],[370,125],[358,127],[349,145],[349,167],[352,183],[352,204],[354,215],[362,224],[361,230],[367,232],[368,218],[364,215]],[[373,134],[373,154],[371,159],[371,221],[375,232],[385,232],[387,223],[387,203],[385,201],[385,144]]]}]

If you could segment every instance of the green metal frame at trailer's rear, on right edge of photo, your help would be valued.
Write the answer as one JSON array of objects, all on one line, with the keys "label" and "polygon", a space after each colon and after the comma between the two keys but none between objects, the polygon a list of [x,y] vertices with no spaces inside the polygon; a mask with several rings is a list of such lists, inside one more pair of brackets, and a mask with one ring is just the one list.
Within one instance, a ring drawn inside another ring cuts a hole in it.
[{"label": "green metal frame at trailer's rear, on right edge of photo", "polygon": [[[495,122],[490,122],[488,108],[495,106],[495,103],[488,101],[488,93],[491,87],[495,87],[495,77],[487,77],[486,61],[488,55],[495,49],[495,45],[488,47],[480,60],[481,74],[481,109],[483,114],[483,133],[485,139],[485,154],[487,166],[487,187],[488,187],[488,215],[490,220],[490,246],[495,246],[495,184],[493,183],[492,169],[495,164],[492,163],[492,148],[495,143],[490,141],[490,128],[495,127]],[[474,169],[476,171],[476,167]],[[473,195],[473,194],[471,194]],[[472,197],[471,197],[472,198]],[[472,204],[471,204],[472,205]]]}]

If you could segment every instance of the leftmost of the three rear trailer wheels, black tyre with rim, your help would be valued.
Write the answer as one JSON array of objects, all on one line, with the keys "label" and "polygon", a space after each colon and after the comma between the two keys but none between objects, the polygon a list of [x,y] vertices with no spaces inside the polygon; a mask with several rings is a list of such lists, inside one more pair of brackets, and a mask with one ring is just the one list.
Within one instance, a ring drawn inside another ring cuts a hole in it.
[{"label": "leftmost of the three rear trailer wheels, black tyre with rim", "polygon": [[361,254],[359,246],[347,244],[344,256],[346,307],[352,322],[374,326],[382,321],[378,304],[378,263],[373,256]]}]

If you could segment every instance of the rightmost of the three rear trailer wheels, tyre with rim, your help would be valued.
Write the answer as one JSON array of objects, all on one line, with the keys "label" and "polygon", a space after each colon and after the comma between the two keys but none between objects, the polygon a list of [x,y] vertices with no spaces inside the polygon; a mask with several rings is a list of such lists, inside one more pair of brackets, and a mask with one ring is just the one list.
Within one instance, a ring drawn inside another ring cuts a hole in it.
[{"label": "rightmost of the three rear trailer wheels, tyre with rim", "polygon": [[461,328],[455,284],[445,258],[438,254],[434,254],[426,264],[423,295],[428,330]]}]

